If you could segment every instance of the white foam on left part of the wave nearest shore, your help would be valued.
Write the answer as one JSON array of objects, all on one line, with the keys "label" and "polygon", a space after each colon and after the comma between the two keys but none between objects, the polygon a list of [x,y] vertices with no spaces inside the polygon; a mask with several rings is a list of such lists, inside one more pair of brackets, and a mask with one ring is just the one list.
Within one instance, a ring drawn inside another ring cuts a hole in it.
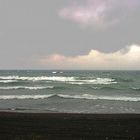
[{"label": "white foam on left part of the wave nearest shore", "polygon": [[49,95],[0,95],[0,100],[9,100],[9,99],[46,99],[52,97],[53,94]]}]

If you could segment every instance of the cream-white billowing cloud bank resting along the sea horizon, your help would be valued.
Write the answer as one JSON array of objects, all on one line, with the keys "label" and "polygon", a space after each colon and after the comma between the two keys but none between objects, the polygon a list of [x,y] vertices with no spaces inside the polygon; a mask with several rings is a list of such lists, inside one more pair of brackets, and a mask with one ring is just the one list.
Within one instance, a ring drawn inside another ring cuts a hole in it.
[{"label": "cream-white billowing cloud bank resting along the sea horizon", "polygon": [[112,53],[91,50],[87,55],[75,57],[53,54],[41,58],[40,63],[50,69],[137,70],[140,69],[140,46],[127,46]]}]

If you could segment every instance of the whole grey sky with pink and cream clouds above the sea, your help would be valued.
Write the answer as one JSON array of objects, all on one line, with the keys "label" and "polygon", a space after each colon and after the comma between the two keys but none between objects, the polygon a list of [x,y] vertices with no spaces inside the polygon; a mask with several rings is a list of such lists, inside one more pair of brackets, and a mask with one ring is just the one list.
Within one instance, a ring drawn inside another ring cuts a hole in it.
[{"label": "whole grey sky with pink and cream clouds above the sea", "polygon": [[0,69],[140,70],[139,0],[0,0]]}]

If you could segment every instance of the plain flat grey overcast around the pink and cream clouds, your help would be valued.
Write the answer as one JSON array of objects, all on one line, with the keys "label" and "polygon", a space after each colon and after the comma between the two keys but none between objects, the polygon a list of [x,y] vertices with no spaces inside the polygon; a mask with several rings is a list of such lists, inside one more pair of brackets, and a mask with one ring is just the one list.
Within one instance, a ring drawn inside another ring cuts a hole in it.
[{"label": "plain flat grey overcast around the pink and cream clouds", "polygon": [[[86,3],[85,0],[71,1],[79,5]],[[87,54],[90,50],[111,53],[128,44],[140,44],[138,3],[126,6],[128,15],[125,20],[100,30],[91,26],[81,28],[60,18],[59,10],[71,6],[71,1],[1,0],[0,69],[41,69],[46,67],[35,60],[42,56],[57,53],[73,57]],[[110,16],[119,14],[117,9],[115,11],[110,12]]]}]

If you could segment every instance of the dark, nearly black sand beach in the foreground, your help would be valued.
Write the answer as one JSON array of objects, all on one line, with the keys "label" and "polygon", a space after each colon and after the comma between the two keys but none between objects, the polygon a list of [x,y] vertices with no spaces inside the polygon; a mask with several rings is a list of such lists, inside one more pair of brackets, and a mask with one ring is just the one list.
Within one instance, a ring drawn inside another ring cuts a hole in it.
[{"label": "dark, nearly black sand beach in the foreground", "polygon": [[139,140],[139,114],[0,112],[0,140]]}]

